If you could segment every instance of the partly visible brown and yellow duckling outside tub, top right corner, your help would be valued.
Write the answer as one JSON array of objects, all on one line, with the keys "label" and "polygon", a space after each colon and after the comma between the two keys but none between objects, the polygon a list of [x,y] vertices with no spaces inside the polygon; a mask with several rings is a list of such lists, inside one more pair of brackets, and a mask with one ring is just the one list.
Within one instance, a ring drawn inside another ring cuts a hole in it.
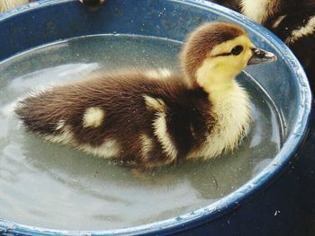
[{"label": "partly visible brown and yellow duckling outside tub, top right corner", "polygon": [[315,1],[241,0],[241,7],[249,19],[266,26],[293,50],[315,92]]}]

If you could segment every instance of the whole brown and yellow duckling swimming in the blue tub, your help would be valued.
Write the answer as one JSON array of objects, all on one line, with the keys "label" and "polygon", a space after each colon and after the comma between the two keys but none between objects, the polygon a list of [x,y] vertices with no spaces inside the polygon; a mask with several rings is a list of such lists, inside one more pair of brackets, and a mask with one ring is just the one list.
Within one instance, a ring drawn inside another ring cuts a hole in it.
[{"label": "whole brown and yellow duckling swimming in the blue tub", "polygon": [[181,72],[98,72],[17,103],[26,129],[49,142],[152,169],[232,150],[250,123],[249,97],[235,80],[247,65],[275,61],[247,32],[208,22],[186,39]]}]

